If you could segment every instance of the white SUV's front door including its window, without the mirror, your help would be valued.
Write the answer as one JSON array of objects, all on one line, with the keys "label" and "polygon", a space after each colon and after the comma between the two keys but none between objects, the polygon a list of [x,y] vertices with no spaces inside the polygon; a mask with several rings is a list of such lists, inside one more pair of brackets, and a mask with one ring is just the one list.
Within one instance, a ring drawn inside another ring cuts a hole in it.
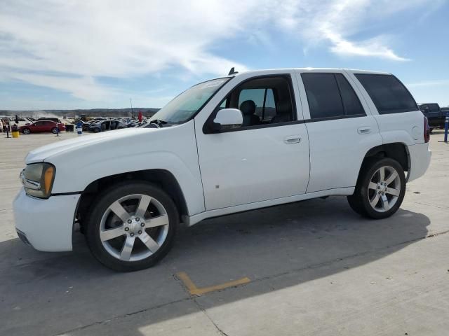
[{"label": "white SUV's front door including its window, without the mirror", "polygon": [[213,133],[204,115],[195,118],[206,211],[307,189],[309,140],[294,73],[243,78],[206,116],[210,120],[222,108],[243,109],[242,127]]}]

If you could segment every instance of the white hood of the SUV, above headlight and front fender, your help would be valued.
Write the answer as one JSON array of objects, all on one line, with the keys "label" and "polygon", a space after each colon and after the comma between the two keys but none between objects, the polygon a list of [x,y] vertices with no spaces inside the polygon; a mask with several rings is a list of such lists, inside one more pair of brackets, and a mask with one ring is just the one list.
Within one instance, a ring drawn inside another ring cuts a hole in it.
[{"label": "white hood of the SUV, above headlight and front fender", "polygon": [[49,144],[43,147],[39,147],[30,151],[25,158],[25,163],[28,165],[35,162],[43,162],[51,156],[61,153],[69,154],[70,152],[86,150],[88,151],[93,146],[101,146],[109,141],[128,141],[129,138],[138,138],[142,134],[148,134],[150,132],[161,132],[163,128],[125,128],[123,130],[114,130],[104,133],[83,135],[78,138],[63,140]]}]

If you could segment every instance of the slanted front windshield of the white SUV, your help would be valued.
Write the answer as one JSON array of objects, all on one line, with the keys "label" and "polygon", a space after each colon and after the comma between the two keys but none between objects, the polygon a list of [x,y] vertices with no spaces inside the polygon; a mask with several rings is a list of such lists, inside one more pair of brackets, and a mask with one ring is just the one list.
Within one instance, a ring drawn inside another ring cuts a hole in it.
[{"label": "slanted front windshield of the white SUV", "polygon": [[204,83],[196,84],[190,87],[182,94],[171,100],[166,106],[163,106],[152,118],[153,120],[159,120],[161,123],[180,124],[185,123],[192,118],[196,112],[203,107],[210,97],[217,92],[222,85],[230,79],[217,78],[208,80]]}]

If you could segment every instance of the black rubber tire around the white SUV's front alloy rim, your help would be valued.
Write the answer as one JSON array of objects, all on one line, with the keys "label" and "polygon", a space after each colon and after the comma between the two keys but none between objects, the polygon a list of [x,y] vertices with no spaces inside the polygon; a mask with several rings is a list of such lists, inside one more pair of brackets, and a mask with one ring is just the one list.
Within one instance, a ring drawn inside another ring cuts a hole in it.
[{"label": "black rubber tire around the white SUV's front alloy rim", "polygon": [[[168,215],[168,232],[159,249],[152,255],[149,255],[149,257],[136,261],[124,261],[114,257],[114,255],[109,253],[105,246],[103,246],[100,239],[100,225],[105,211],[107,211],[111,204],[116,202],[116,200],[120,200],[122,197],[135,194],[148,195],[162,204]],[[179,225],[179,215],[173,200],[160,188],[147,182],[125,181],[123,183],[115,184],[100,193],[93,204],[93,207],[91,207],[89,211],[88,221],[85,228],[86,241],[95,258],[106,267],[119,272],[133,272],[139,269],[152,267],[156,262],[159,262],[159,260],[161,260],[173,246],[175,234]]]}]

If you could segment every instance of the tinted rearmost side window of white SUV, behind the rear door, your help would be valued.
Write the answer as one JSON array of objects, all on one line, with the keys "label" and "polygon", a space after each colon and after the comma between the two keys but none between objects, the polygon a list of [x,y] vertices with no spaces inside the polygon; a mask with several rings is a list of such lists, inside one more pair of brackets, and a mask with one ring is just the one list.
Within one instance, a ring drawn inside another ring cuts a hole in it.
[{"label": "tinted rearmost side window of white SUV, behind the rear door", "polygon": [[373,100],[379,114],[417,111],[415,99],[393,75],[354,73]]}]

